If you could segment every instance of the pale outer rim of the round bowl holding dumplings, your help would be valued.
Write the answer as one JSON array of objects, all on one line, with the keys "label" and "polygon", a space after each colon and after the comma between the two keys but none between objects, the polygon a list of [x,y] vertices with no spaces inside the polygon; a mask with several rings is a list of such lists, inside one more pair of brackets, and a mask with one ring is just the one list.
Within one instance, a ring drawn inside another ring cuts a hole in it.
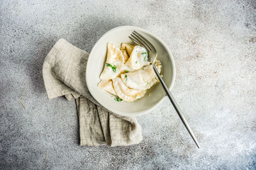
[{"label": "pale outer rim of the round bowl holding dumplings", "polygon": [[113,31],[116,31],[118,29],[133,29],[133,30],[136,30],[136,31],[141,31],[141,32],[145,32],[147,34],[149,34],[150,36],[152,36],[153,38],[157,39],[163,46],[164,48],[166,48],[166,51],[168,52],[168,55],[170,57],[170,60],[171,60],[171,65],[172,65],[172,73],[173,73],[173,77],[172,77],[172,81],[171,81],[171,84],[170,86],[168,87],[169,90],[172,90],[173,88],[173,85],[174,85],[174,81],[175,81],[175,74],[176,74],[176,71],[175,71],[175,62],[174,62],[174,59],[173,59],[173,55],[172,55],[172,52],[170,50],[170,48],[164,43],[164,41],[159,38],[158,36],[152,34],[151,32],[145,30],[145,29],[141,29],[140,27],[136,27],[136,26],[132,26],[132,25],[123,25],[123,26],[119,26],[119,27],[115,27],[111,30],[109,30],[108,32],[106,32],[105,34],[103,34],[99,39],[98,41],[95,43],[95,45],[93,45],[93,48],[90,52],[90,55],[88,57],[88,60],[87,60],[87,64],[86,64],[86,85],[88,87],[88,90],[90,92],[90,94],[92,95],[92,97],[99,103],[101,104],[104,108],[106,108],[107,110],[113,112],[113,113],[116,113],[118,115],[122,115],[122,116],[128,116],[128,117],[135,117],[135,116],[139,116],[139,115],[145,115],[147,113],[149,113],[150,111],[154,110],[154,108],[156,108],[157,106],[159,106],[159,104],[161,104],[164,100],[164,98],[166,97],[163,96],[159,101],[157,101],[157,103],[148,108],[147,110],[143,110],[143,111],[136,111],[136,112],[132,112],[132,115],[131,113],[129,112],[125,112],[125,111],[118,111],[118,110],[115,110],[113,108],[109,108],[107,106],[107,104],[104,104],[104,103],[100,103],[98,97],[93,93],[93,90],[92,90],[92,87],[90,85],[89,80],[88,80],[88,74],[89,74],[89,71],[88,71],[88,64],[90,63],[90,60],[92,58],[92,52],[95,50],[96,46],[98,45],[98,43],[103,39],[105,38],[110,32],[113,32]]}]

